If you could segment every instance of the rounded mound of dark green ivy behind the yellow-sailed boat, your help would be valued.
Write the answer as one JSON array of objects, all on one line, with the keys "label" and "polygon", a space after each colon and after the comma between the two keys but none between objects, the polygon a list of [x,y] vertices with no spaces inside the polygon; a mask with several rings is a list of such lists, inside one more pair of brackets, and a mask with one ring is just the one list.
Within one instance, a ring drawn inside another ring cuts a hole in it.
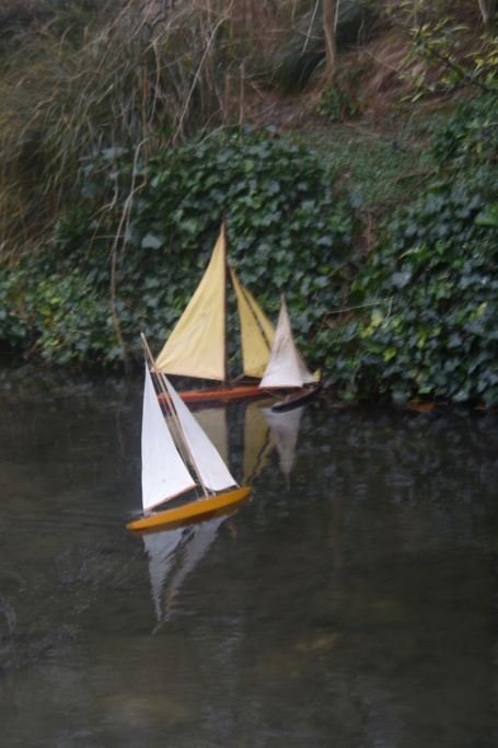
[{"label": "rounded mound of dark green ivy behind the yellow-sailed boat", "polygon": [[359,228],[317,153],[269,131],[234,131],[149,159],[107,150],[82,168],[84,199],[9,276],[9,303],[24,324],[15,340],[0,327],[11,344],[35,345],[60,365],[119,363],[114,262],[125,343],[137,347],[143,330],[158,349],[197,287],[227,211],[242,283],[274,320],[283,288],[297,338],[316,355],[313,330],[352,277]]}]

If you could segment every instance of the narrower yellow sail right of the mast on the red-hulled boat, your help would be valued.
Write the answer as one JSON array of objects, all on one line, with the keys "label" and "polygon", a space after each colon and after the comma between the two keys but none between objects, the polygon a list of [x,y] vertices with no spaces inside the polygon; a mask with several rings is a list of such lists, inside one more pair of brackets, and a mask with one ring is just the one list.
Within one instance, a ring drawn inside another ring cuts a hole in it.
[{"label": "narrower yellow sail right of the mast on the red-hulled boat", "polygon": [[239,308],[243,370],[247,377],[260,379],[269,360],[275,331],[256,300],[239,281],[233,267],[230,275]]}]

